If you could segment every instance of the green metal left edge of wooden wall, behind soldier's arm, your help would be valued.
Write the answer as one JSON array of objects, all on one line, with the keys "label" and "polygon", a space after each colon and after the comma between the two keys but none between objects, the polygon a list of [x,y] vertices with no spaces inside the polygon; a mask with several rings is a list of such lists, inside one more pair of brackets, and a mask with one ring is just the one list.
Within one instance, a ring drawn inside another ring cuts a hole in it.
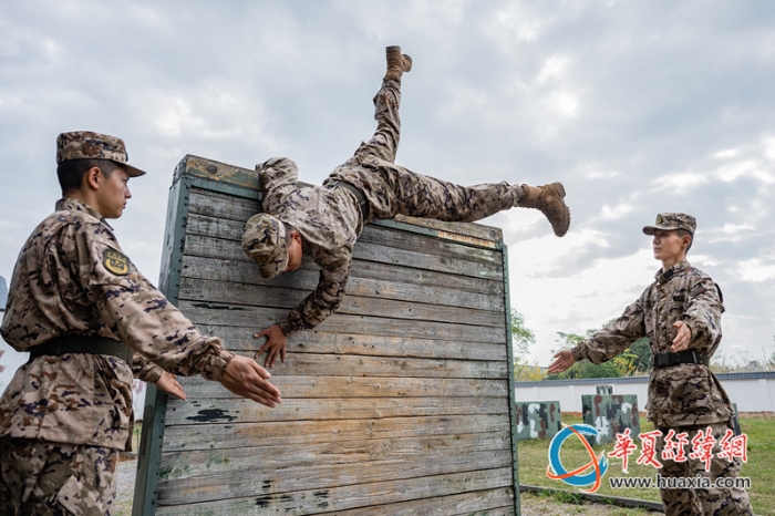
[{"label": "green metal left edge of wooden wall, behind soldier's arm", "polygon": [[[177,303],[180,290],[180,269],[186,238],[190,183],[187,177],[176,175],[173,186],[169,188],[167,200],[159,290],[173,303]],[[137,481],[135,482],[135,494],[132,505],[133,516],[152,516],[156,514],[158,472],[162,461],[166,413],[166,393],[156,389],[156,385],[149,384],[145,395],[143,433],[137,457]]]}]

